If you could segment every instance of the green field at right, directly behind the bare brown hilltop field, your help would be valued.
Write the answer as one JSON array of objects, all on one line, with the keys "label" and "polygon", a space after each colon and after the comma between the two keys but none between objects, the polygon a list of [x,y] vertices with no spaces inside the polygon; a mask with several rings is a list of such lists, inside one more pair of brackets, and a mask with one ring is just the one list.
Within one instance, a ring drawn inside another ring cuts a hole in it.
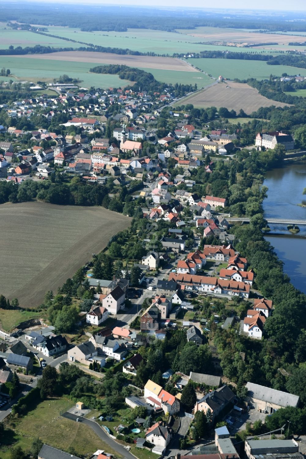
[{"label": "green field at right, directly behind the bare brown hilltop field", "polygon": [[206,73],[214,77],[222,75],[223,78],[241,80],[247,78],[257,78],[258,80],[270,78],[271,73],[281,76],[282,73],[288,75],[306,76],[305,68],[289,67],[287,65],[267,65],[264,61],[245,61],[236,59],[194,59],[194,67],[199,67]]}]

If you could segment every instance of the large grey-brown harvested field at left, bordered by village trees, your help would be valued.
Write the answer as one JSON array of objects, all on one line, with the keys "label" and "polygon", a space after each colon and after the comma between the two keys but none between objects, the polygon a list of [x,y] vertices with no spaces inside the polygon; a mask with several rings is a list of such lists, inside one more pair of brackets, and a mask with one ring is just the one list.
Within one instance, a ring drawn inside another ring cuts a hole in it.
[{"label": "large grey-brown harvested field at left, bordered by village trees", "polygon": [[38,306],[130,221],[103,207],[2,204],[0,292],[22,307]]}]

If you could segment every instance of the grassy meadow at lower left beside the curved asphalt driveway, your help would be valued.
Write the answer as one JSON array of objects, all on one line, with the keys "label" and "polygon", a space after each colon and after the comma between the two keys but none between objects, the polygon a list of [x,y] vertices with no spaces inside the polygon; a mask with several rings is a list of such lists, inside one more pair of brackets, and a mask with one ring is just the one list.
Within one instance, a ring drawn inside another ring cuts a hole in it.
[{"label": "grassy meadow at lower left beside the curved asphalt driveway", "polygon": [[66,409],[68,404],[66,398],[48,399],[39,403],[33,411],[17,420],[17,438],[22,436],[32,440],[39,436],[44,443],[55,448],[67,450],[73,446],[78,455],[90,456],[97,449],[104,449],[118,456],[88,425],[60,416],[60,411]]}]

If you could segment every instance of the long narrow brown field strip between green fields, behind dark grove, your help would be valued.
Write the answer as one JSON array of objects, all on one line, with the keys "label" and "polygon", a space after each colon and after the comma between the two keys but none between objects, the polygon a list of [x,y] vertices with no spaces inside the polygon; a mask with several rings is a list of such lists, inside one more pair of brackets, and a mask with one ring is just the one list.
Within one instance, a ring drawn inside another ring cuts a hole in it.
[{"label": "long narrow brown field strip between green fields, behind dark grove", "polygon": [[[10,57],[10,56],[8,56]],[[111,53],[96,53],[87,51],[61,51],[49,54],[25,54],[22,56],[28,59],[47,59],[51,61],[65,62],[90,62],[93,64],[124,64],[129,67],[154,68],[160,70],[178,70],[184,72],[198,72],[187,62],[173,57],[157,56],[130,56]]]}]

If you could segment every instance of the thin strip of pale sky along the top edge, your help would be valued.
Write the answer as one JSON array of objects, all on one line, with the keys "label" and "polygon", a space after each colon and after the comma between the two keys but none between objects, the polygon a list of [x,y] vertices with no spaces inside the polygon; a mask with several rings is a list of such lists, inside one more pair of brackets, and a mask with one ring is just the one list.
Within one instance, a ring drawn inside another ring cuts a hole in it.
[{"label": "thin strip of pale sky along the top edge", "polygon": [[51,2],[50,0],[37,0],[40,3],[79,3],[79,4],[111,4],[111,5],[139,5],[139,6],[183,6],[183,7],[194,7],[194,8],[241,8],[241,9],[262,9],[262,10],[276,10],[276,11],[306,11],[306,1],[305,0],[256,0],[245,1],[245,0],[218,0],[217,2],[203,1],[203,0],[191,0],[186,2],[186,0],[154,0],[151,4],[145,3],[144,0],[115,0],[115,1],[103,1],[103,0],[55,0]]}]

